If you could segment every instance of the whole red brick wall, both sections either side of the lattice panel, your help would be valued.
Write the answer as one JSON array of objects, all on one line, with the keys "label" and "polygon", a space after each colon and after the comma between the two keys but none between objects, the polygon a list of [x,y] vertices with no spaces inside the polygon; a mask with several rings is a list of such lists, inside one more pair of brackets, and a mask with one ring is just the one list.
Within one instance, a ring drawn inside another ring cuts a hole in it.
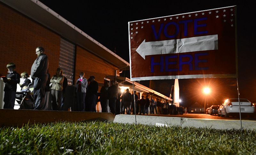
[{"label": "whole red brick wall, both sections either side of the lattice panel", "polygon": [[[0,2],[0,74],[7,74],[6,65],[16,64],[18,73],[28,72],[36,59],[36,47],[42,46],[49,58],[49,73],[55,74],[59,66],[60,36]],[[115,76],[117,67],[91,52],[77,46],[75,81],[84,72],[88,79],[95,76],[99,90],[104,77]]]}]

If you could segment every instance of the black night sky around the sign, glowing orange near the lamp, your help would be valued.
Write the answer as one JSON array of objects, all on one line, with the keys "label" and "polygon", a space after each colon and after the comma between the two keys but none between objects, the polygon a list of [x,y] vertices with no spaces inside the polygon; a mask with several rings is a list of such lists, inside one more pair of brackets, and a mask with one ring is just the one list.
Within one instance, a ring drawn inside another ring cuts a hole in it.
[{"label": "black night sky around the sign, glowing orange near the lamp", "polygon": [[[237,5],[238,82],[240,97],[256,102],[255,5],[253,1],[58,1],[40,0],[53,11],[129,62],[128,22]],[[122,3],[121,3],[122,2]],[[126,73],[126,75],[129,73]],[[174,80],[140,81],[170,95]],[[236,79],[180,79],[185,106],[195,102],[219,105],[237,98]],[[209,85],[212,93],[202,89]]]}]

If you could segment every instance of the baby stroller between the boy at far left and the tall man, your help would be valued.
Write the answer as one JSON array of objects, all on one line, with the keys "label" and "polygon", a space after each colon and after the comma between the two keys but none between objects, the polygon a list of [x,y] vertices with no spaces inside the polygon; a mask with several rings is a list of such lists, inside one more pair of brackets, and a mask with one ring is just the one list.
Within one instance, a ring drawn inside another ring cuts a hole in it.
[{"label": "baby stroller between the boy at far left and the tall man", "polygon": [[33,98],[33,85],[34,83],[29,83],[28,88],[16,92],[16,101],[20,105],[19,109],[34,109],[34,98]]}]

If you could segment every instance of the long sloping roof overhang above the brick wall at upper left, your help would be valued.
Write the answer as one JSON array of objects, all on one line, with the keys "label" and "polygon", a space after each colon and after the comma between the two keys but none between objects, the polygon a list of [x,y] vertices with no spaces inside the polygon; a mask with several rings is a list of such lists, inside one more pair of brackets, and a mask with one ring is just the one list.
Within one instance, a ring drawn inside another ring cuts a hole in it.
[{"label": "long sloping roof overhang above the brick wall at upper left", "polygon": [[[130,66],[123,58],[84,33],[38,0],[0,0],[60,36],[94,53],[118,68]],[[127,67],[130,68],[130,67]]]}]

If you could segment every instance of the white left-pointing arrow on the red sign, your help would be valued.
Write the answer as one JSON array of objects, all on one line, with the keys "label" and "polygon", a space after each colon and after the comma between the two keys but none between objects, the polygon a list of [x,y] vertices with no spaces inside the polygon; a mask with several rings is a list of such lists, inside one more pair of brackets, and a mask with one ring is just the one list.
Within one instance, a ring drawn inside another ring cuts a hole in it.
[{"label": "white left-pointing arrow on the red sign", "polygon": [[137,52],[145,59],[147,55],[185,53],[202,50],[218,50],[218,35],[145,42],[137,48]]}]

